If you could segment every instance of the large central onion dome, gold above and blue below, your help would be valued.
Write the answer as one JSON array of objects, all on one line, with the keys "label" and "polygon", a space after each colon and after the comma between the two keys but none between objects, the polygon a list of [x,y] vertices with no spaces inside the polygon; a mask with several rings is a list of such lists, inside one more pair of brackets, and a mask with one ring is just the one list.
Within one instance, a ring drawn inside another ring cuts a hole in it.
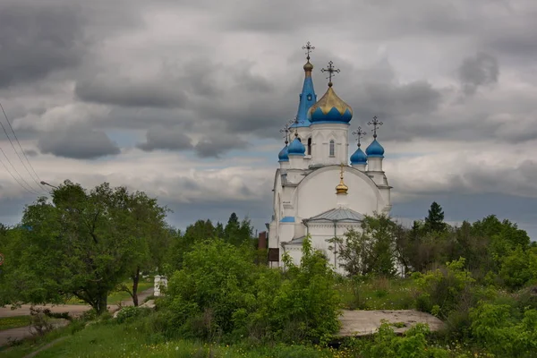
[{"label": "large central onion dome, gold above and blue below", "polygon": [[353,118],[353,108],[337,97],[329,83],[324,96],[310,107],[308,117],[311,124],[348,124]]}]

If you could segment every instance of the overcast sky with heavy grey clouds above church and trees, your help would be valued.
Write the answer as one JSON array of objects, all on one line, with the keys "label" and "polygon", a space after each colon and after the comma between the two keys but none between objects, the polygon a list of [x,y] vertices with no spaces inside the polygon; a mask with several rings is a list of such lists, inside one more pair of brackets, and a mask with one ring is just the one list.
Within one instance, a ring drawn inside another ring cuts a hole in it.
[{"label": "overcast sky with heavy grey clouds above church and trees", "polygon": [[[235,211],[261,230],[311,41],[318,96],[331,60],[351,129],[384,123],[394,217],[437,200],[450,222],[496,214],[536,239],[535,18],[534,0],[0,0],[0,101],[41,180],[148,192],[177,227]],[[3,131],[0,147],[38,191]],[[13,224],[37,195],[0,168]]]}]

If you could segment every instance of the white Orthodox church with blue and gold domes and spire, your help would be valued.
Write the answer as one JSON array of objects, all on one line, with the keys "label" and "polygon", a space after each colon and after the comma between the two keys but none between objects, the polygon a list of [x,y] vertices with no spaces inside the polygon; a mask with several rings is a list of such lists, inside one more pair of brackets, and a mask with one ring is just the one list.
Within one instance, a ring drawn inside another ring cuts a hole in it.
[{"label": "white Orthodox church with blue and gold domes and spire", "polygon": [[[304,64],[303,90],[294,124],[286,125],[286,146],[278,155],[274,177],[272,220],[268,224],[268,260],[271,267],[282,266],[287,252],[300,263],[302,243],[311,236],[314,248],[324,251],[338,265],[337,248],[329,240],[351,228],[359,230],[364,215],[388,214],[391,209],[388,179],[382,169],[384,149],[377,141],[382,124],[373,117],[373,141],[360,148],[362,129],[354,132],[358,148],[349,155],[349,135],[353,109],[339,98],[332,76],[339,70],[332,63],[328,89],[317,100],[313,90],[310,43]],[[290,138],[289,138],[290,137]]]}]

